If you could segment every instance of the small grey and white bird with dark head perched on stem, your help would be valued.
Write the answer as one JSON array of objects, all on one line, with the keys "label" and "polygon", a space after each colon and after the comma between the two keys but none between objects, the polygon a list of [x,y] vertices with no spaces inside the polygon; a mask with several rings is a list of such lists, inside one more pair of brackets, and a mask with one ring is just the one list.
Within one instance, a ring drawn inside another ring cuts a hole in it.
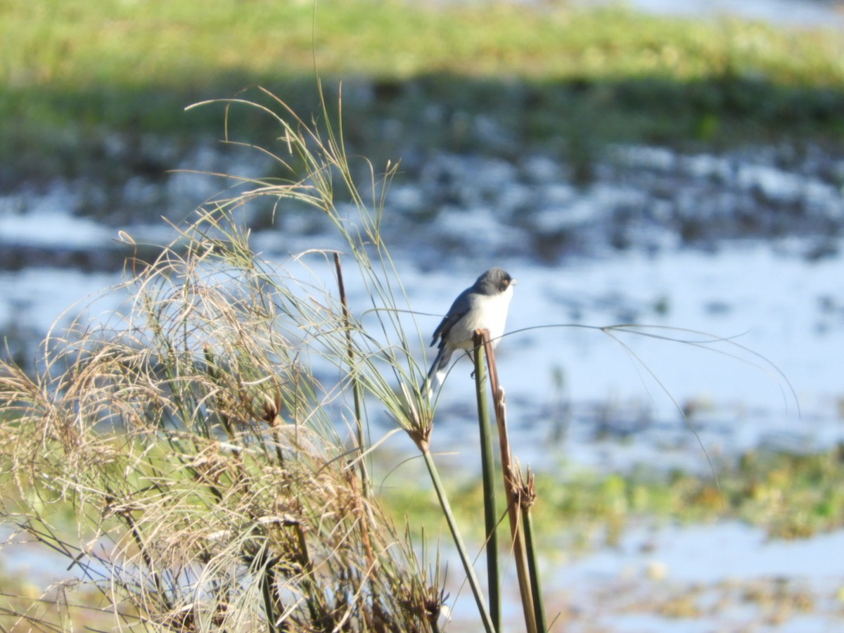
[{"label": "small grey and white bird with dark head perched on stem", "polygon": [[503,268],[490,268],[470,288],[457,295],[446,317],[434,330],[434,338],[430,342],[433,347],[437,338],[440,339],[440,352],[430,365],[425,381],[429,395],[440,388],[454,350],[474,348],[475,330],[489,330],[492,344],[498,344],[498,339],[504,334],[515,284],[516,279]]}]

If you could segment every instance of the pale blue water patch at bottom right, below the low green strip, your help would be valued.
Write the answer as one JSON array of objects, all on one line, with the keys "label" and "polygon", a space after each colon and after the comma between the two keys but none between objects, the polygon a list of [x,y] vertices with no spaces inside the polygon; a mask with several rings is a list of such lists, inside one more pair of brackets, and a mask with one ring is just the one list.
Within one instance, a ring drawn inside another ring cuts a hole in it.
[{"label": "pale blue water patch at bottom right, below the low green strip", "polygon": [[[614,547],[544,560],[546,612],[577,633],[838,630],[842,569],[828,553],[842,546],[844,533],[771,542],[739,522],[628,527]],[[522,628],[518,603],[505,617]],[[476,630],[468,596],[455,619],[449,630]]]}]

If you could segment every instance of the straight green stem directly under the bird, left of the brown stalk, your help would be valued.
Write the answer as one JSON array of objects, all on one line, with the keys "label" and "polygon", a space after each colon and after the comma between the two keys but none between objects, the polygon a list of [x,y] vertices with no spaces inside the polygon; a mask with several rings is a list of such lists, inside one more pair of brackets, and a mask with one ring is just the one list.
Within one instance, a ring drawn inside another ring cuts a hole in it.
[{"label": "straight green stem directly under the bird, left of the brown stalk", "polygon": [[480,427],[480,463],[484,480],[484,525],[486,526],[487,591],[490,592],[490,614],[495,630],[501,630],[500,565],[498,562],[498,513],[495,510],[495,460],[492,452],[490,407],[485,392],[483,337],[474,335],[475,393],[478,398]]}]

